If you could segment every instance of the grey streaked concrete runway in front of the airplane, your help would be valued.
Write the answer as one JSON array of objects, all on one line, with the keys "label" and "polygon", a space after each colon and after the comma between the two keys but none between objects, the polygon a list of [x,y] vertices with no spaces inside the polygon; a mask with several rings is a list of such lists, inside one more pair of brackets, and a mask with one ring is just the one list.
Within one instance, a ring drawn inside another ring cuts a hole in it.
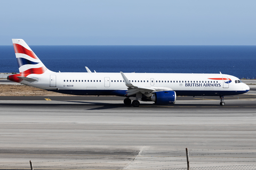
[{"label": "grey streaked concrete runway in front of the airplane", "polygon": [[186,168],[185,148],[190,167],[256,164],[256,99],[245,97],[226,106],[218,98],[140,107],[111,97],[0,100],[0,169],[29,160],[35,169]]}]

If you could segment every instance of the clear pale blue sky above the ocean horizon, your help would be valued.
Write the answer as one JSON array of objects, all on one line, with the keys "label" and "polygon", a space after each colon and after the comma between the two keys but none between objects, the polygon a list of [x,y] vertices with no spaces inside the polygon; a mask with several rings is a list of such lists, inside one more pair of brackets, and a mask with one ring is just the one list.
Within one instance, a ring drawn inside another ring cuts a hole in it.
[{"label": "clear pale blue sky above the ocean horizon", "polygon": [[0,45],[256,45],[256,1],[0,1]]}]

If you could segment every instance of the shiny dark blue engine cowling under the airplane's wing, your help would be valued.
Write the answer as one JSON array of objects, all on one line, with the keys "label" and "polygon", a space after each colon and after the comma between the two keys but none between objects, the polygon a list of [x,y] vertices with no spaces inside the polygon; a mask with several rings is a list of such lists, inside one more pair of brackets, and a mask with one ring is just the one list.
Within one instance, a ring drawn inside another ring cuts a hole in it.
[{"label": "shiny dark blue engine cowling under the airplane's wing", "polygon": [[175,104],[176,101],[176,92],[175,91],[157,91],[153,96],[151,96],[151,100],[155,101],[158,105],[168,105]]}]

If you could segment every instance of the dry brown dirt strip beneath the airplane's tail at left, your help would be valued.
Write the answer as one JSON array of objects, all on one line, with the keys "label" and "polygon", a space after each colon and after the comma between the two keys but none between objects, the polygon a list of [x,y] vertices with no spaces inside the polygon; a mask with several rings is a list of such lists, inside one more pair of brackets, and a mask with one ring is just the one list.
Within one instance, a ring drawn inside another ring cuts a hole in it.
[{"label": "dry brown dirt strip beneath the airplane's tail at left", "polygon": [[25,85],[0,84],[0,96],[74,96]]}]

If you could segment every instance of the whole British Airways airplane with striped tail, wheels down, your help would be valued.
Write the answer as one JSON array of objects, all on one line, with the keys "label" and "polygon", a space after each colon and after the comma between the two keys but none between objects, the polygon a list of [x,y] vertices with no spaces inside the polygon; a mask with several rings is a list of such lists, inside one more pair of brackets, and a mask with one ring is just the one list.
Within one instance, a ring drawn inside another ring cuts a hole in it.
[{"label": "whole British Airways airplane with striped tail, wheels down", "polygon": [[[138,107],[141,101],[175,104],[177,96],[224,96],[244,94],[250,88],[233,75],[193,73],[100,73],[53,72],[45,67],[23,39],[12,39],[19,74],[8,80],[27,86],[71,95],[123,96],[124,104]],[[131,101],[130,97],[135,97]]]}]

